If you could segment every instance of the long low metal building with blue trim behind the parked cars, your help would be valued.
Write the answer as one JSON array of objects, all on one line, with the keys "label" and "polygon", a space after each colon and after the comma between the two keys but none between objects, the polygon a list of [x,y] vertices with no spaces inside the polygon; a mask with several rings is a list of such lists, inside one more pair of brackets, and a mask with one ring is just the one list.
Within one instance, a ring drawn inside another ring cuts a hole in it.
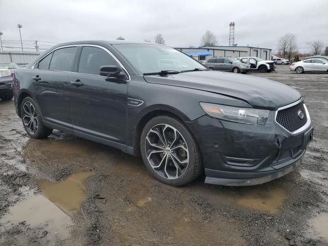
[{"label": "long low metal building with blue trim behind the parked cars", "polygon": [[199,48],[175,48],[197,60],[208,60],[211,57],[255,56],[264,60],[271,59],[272,49],[252,46],[207,46]]}]

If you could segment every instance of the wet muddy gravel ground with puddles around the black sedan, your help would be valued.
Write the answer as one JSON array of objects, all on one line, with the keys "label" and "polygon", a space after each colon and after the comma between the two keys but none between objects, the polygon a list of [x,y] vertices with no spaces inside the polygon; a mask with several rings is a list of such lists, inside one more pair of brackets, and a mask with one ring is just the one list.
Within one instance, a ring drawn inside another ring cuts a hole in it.
[{"label": "wet muddy gravel ground with puddles around the black sedan", "polygon": [[297,89],[315,127],[297,171],[254,187],[163,185],[119,150],[30,139],[0,101],[0,245],[328,245],[328,74],[252,75]]}]

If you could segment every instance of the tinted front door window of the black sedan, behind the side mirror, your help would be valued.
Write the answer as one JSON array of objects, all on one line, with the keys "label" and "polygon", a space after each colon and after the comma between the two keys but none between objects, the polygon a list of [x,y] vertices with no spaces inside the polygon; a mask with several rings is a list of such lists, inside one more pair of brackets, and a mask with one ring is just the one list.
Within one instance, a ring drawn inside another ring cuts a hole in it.
[{"label": "tinted front door window of the black sedan, behind the side mirror", "polygon": [[85,46],[82,49],[78,65],[78,72],[99,75],[102,66],[118,66],[115,59],[105,50],[97,47]]}]

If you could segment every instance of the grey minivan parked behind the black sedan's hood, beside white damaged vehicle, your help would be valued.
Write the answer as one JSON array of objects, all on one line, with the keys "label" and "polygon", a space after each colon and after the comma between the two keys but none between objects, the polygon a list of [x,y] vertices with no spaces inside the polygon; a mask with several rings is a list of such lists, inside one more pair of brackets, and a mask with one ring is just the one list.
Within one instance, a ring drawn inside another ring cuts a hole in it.
[{"label": "grey minivan parked behind the black sedan's hood, beside white damaged vehicle", "polygon": [[249,65],[245,65],[236,58],[231,57],[210,58],[205,63],[205,66],[211,70],[227,71],[233,73],[247,73],[251,70]]}]

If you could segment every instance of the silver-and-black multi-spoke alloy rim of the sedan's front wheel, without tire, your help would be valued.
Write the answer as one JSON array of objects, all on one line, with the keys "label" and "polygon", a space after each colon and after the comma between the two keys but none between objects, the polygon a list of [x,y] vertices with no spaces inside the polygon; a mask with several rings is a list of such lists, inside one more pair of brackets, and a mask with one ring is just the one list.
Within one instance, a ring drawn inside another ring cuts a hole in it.
[{"label": "silver-and-black multi-spoke alloy rim of the sedan's front wheel, without tire", "polygon": [[152,169],[167,179],[177,179],[186,172],[189,150],[181,133],[168,124],[151,128],[145,139],[145,151]]}]

